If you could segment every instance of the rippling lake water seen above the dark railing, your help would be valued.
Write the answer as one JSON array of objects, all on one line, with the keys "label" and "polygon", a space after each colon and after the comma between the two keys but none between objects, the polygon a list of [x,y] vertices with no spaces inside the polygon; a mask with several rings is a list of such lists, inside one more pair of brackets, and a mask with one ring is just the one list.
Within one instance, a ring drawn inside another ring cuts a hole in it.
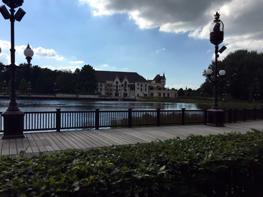
[{"label": "rippling lake water seen above the dark railing", "polygon": [[[5,111],[8,107],[9,99],[0,100],[0,111]],[[211,104],[202,103],[168,103],[168,102],[139,102],[139,101],[90,101],[90,100],[17,100],[21,111],[93,111],[100,110],[203,110],[211,108]]]}]

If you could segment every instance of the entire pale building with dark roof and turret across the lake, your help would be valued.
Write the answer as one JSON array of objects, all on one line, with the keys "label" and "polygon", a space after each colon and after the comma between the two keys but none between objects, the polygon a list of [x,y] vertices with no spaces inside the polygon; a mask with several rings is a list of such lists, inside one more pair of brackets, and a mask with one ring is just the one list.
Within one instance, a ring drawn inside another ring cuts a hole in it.
[{"label": "entire pale building with dark roof and turret across the lake", "polygon": [[177,90],[164,87],[164,74],[156,75],[153,80],[146,80],[137,72],[95,70],[95,75],[98,79],[98,95],[177,97]]}]

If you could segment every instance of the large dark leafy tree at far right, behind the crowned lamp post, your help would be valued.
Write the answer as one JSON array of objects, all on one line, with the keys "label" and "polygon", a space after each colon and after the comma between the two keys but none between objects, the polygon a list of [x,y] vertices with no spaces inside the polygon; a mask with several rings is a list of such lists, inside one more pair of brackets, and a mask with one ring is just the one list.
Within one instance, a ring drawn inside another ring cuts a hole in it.
[{"label": "large dark leafy tree at far right, behind the crowned lamp post", "polygon": [[236,50],[229,53],[223,60],[226,71],[226,84],[228,92],[236,99],[253,100],[253,91],[262,86],[263,53]]}]

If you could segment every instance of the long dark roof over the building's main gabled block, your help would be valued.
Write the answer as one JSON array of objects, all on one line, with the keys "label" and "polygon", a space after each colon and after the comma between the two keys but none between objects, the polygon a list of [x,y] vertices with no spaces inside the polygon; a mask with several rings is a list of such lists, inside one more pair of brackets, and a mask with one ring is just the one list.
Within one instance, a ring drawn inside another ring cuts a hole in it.
[{"label": "long dark roof over the building's main gabled block", "polygon": [[118,71],[101,71],[95,70],[98,82],[114,81],[116,76],[122,81],[125,75],[130,83],[133,82],[148,82],[143,76],[137,72],[118,72]]}]

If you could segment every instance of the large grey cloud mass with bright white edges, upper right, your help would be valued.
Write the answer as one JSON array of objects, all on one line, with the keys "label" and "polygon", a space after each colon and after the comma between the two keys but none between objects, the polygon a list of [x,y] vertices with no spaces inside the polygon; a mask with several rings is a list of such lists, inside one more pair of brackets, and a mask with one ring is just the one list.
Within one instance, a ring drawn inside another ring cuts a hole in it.
[{"label": "large grey cloud mass with bright white edges, upper right", "polygon": [[[209,39],[212,12],[221,11],[224,42],[232,49],[263,50],[263,29],[259,0],[79,0],[94,8],[93,15],[127,14],[141,29],[186,33],[194,39]],[[159,51],[156,51],[159,52]]]}]

